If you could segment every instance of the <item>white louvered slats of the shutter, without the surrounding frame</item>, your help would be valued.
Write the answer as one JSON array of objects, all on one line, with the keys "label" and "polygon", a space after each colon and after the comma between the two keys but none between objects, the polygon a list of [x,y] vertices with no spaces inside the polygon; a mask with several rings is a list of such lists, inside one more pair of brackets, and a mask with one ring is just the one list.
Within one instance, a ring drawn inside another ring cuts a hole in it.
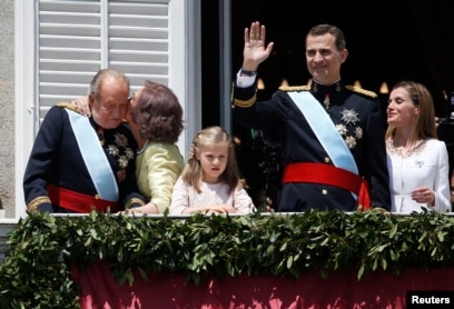
[{"label": "white louvered slats of the shutter, without the surrounding frame", "polygon": [[169,0],[39,0],[39,122],[50,107],[86,96],[112,67],[131,91],[146,79],[168,84]]}]

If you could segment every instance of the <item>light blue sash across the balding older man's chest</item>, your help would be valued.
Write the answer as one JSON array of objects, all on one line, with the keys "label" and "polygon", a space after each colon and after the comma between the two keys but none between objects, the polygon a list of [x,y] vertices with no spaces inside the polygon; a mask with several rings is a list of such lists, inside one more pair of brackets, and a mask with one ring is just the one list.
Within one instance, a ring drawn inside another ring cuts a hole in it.
[{"label": "light blue sash across the balding older man's chest", "polygon": [[118,201],[117,180],[107,160],[106,152],[99,143],[99,138],[90,124],[88,117],[66,109],[69,114],[72,131],[90,173],[95,188],[101,199]]}]

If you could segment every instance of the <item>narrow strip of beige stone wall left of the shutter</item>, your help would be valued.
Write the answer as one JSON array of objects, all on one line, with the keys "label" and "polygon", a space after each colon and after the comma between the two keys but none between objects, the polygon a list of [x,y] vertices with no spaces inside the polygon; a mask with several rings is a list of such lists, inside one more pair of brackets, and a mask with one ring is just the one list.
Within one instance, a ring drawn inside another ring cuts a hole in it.
[{"label": "narrow strip of beige stone wall left of the shutter", "polygon": [[7,218],[14,217],[14,1],[0,0],[0,199]]}]

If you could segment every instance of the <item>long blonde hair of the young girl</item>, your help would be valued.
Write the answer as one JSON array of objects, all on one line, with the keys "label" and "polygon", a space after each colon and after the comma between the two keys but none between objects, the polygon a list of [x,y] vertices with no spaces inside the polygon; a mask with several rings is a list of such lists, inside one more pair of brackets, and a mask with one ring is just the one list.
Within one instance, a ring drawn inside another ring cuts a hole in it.
[{"label": "long blonde hair of the young girl", "polygon": [[224,172],[219,176],[220,182],[228,186],[228,193],[231,193],[235,188],[241,183],[241,177],[235,156],[235,144],[230,136],[218,126],[208,127],[199,131],[193,139],[188,162],[181,172],[182,180],[195,188],[198,193],[201,192],[200,182],[204,178],[204,171],[200,161],[197,159],[197,154],[200,153],[205,146],[217,143],[226,143],[228,147],[227,166]]}]

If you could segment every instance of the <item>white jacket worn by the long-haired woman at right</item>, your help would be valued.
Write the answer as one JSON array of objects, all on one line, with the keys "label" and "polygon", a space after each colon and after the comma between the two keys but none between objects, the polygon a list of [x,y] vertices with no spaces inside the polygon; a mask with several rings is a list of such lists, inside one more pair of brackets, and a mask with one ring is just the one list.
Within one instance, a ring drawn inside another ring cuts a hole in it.
[{"label": "white jacket worn by the long-haired woman at right", "polygon": [[[406,156],[394,149],[391,139],[387,140],[391,211],[421,212],[423,207],[440,212],[451,211],[447,156],[446,144],[437,139],[424,140]],[[428,187],[435,192],[435,207],[412,200],[412,191],[420,187]]]}]

